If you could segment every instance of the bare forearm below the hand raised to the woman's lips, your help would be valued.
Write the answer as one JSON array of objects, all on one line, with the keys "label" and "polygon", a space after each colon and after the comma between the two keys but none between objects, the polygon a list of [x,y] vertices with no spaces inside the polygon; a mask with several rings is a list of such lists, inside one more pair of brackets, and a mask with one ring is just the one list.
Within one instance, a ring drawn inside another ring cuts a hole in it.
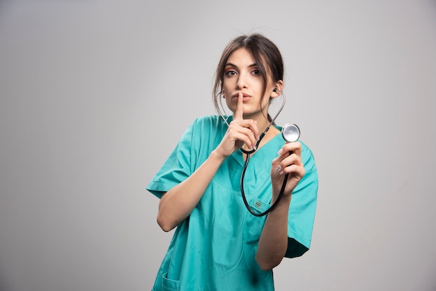
[{"label": "bare forearm below the hand raised to the woman's lips", "polygon": [[224,159],[214,150],[189,178],[162,196],[157,212],[157,223],[162,230],[172,230],[189,216]]}]

